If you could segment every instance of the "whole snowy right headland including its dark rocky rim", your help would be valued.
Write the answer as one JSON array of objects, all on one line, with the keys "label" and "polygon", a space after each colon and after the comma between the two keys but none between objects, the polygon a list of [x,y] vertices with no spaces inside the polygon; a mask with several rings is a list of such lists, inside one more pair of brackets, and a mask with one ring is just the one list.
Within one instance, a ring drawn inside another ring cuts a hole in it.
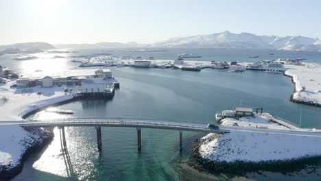
[{"label": "whole snowy right headland including its dark rocky rim", "polygon": [[[285,126],[270,121],[276,120],[268,113],[256,114],[254,118],[227,118],[222,125],[254,127],[260,129],[287,130]],[[315,129],[297,128],[298,131],[316,131]],[[300,147],[298,147],[300,143]],[[207,134],[193,143],[193,155],[196,161],[209,169],[251,169],[249,165],[261,169],[271,168],[271,165],[305,162],[307,159],[321,156],[321,140],[313,136],[289,136],[259,132],[229,132],[226,134]],[[270,165],[270,166],[269,166]]]}]

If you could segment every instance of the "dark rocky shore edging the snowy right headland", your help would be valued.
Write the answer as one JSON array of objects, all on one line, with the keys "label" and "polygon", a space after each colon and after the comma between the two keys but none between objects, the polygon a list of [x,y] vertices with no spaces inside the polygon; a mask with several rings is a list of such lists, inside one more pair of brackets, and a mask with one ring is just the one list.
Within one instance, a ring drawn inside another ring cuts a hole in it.
[{"label": "dark rocky shore edging the snowy right headland", "polygon": [[[214,138],[218,138],[220,134],[216,134]],[[210,141],[210,140],[206,140]],[[203,158],[200,154],[200,146],[205,141],[201,138],[195,139],[192,145],[192,156],[189,166],[198,171],[205,171],[208,173],[219,174],[225,173],[227,176],[244,176],[248,172],[260,171],[277,171],[282,173],[289,173],[305,169],[307,165],[317,165],[321,161],[321,156],[304,157],[291,160],[271,160],[260,162],[246,162],[237,160],[235,162],[217,162]]]}]

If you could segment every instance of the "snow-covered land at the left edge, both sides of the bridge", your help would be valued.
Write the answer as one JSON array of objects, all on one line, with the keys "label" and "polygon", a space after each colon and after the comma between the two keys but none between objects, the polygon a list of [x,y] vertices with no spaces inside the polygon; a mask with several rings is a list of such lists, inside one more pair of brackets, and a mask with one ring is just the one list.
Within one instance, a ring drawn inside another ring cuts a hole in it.
[{"label": "snow-covered land at the left edge, both sides of the bridge", "polygon": [[[64,88],[10,88],[13,82],[0,85],[0,121],[21,121],[22,117],[33,110],[73,98],[72,93],[64,93]],[[41,93],[38,95],[37,93]],[[28,132],[21,126],[5,125],[0,127],[0,171],[5,165],[12,168],[19,164],[21,157],[36,142],[42,142],[47,131]],[[49,136],[49,134],[46,134]]]}]

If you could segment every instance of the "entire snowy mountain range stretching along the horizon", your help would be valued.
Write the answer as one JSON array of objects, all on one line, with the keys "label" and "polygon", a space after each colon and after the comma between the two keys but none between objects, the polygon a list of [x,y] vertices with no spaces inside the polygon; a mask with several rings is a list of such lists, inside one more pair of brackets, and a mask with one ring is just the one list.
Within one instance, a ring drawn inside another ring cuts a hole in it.
[{"label": "entire snowy mountain range stretching along the horizon", "polygon": [[250,33],[234,34],[220,32],[215,34],[195,35],[170,38],[151,44],[135,42],[101,42],[94,44],[56,44],[35,42],[0,45],[0,53],[31,52],[45,49],[108,49],[108,48],[134,48],[134,47],[212,47],[224,49],[280,49],[292,51],[321,51],[321,40],[305,36],[259,36]]}]

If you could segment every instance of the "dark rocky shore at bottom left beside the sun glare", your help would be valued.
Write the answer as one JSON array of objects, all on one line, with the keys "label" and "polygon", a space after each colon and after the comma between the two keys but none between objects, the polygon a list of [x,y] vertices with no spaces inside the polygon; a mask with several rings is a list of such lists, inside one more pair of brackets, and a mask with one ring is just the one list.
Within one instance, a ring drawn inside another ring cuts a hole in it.
[{"label": "dark rocky shore at bottom left beside the sun glare", "polygon": [[[8,167],[7,166],[3,166],[0,169],[0,180],[10,180],[12,178],[14,178],[15,176],[17,176],[19,173],[21,173],[22,169],[23,169],[23,164],[25,162],[25,160],[27,160],[28,156],[30,154],[33,154],[34,152],[38,152],[41,149],[43,149],[43,147],[45,147],[45,145],[47,145],[48,143],[50,143],[53,139],[53,129],[45,129],[43,130],[43,128],[24,128],[27,132],[29,132],[30,134],[33,135],[37,135],[41,137],[41,140],[37,140],[36,138],[34,138],[34,143],[32,143],[31,146],[27,147],[27,149],[25,150],[25,152],[23,153],[23,155],[21,156],[21,159],[19,160],[19,164],[15,165],[14,167]],[[22,142],[27,143],[26,140],[22,140]],[[9,165],[10,166],[10,165]]]}]

